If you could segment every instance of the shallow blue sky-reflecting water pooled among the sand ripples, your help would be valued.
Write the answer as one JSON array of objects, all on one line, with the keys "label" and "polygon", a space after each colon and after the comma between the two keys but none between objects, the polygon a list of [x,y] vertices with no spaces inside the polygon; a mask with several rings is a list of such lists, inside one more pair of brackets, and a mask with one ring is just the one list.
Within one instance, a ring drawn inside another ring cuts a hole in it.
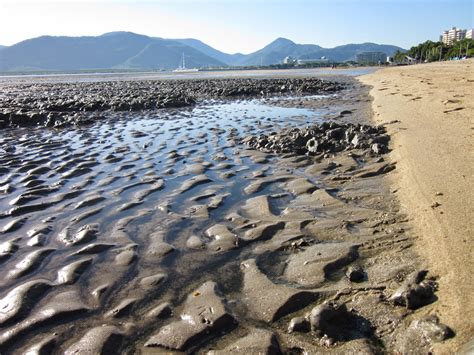
[{"label": "shallow blue sky-reflecting water pooled among the sand ripples", "polygon": [[[161,178],[166,177],[164,189],[149,196],[144,202],[146,206],[153,206],[162,195],[166,196],[167,191],[172,191],[181,183],[184,176],[188,175],[185,172],[186,166],[193,164],[194,161],[217,164],[220,160],[220,157],[215,157],[217,154],[225,155],[226,159],[223,159],[225,161],[236,159],[233,150],[237,138],[291,126],[320,123],[322,116],[327,113],[270,106],[258,100],[230,103],[211,101],[184,110],[123,114],[121,118],[75,130],[5,130],[2,147],[15,148],[14,158],[12,157],[15,159],[15,164],[37,165],[37,161],[41,160],[38,165],[45,166],[47,171],[39,175],[33,172],[30,175],[29,170],[33,168],[22,167],[21,173],[12,169],[10,174],[5,174],[1,181],[3,184],[9,183],[15,187],[15,191],[1,196],[0,209],[8,211],[12,208],[11,201],[28,190],[22,187],[22,183],[29,178],[44,181],[35,188],[58,186],[59,189],[55,190],[55,193],[69,191],[74,189],[76,184],[91,179],[85,190],[108,193],[123,186],[125,181],[127,185],[140,181],[147,173],[153,173],[153,176]],[[51,146],[54,149],[51,149]],[[177,152],[178,156],[169,158],[168,155],[174,152]],[[110,163],[105,158],[111,154],[114,158]],[[43,161],[44,159],[47,161]],[[67,178],[55,172],[59,170],[67,174],[81,162],[82,165],[89,166],[91,171]],[[253,168],[256,164],[251,165]],[[239,168],[237,164],[236,167]],[[168,169],[172,169],[173,172],[164,175],[164,171]],[[218,172],[220,173],[220,171],[209,173],[213,178],[222,180],[217,177]],[[96,186],[95,183],[109,177],[115,177],[117,180],[100,189]],[[234,177],[232,181],[235,180],[238,179]],[[123,194],[123,198],[112,198],[108,200],[111,205],[107,203],[106,205],[113,207],[127,202],[136,190],[131,188]],[[64,214],[68,212],[71,211],[66,208]],[[44,216],[48,213],[48,210],[41,211],[41,215]],[[23,228],[26,227],[27,224]]]}]

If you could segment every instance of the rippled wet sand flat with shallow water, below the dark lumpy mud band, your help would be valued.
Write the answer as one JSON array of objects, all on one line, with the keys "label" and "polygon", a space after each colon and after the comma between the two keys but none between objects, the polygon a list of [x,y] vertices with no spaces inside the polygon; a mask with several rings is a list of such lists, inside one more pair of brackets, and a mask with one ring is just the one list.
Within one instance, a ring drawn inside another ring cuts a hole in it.
[{"label": "rippled wet sand flat with shallow water, below the dark lumpy mud band", "polygon": [[4,130],[2,350],[406,350],[419,305],[389,298],[418,261],[383,155],[240,143],[340,110],[205,101]]}]

